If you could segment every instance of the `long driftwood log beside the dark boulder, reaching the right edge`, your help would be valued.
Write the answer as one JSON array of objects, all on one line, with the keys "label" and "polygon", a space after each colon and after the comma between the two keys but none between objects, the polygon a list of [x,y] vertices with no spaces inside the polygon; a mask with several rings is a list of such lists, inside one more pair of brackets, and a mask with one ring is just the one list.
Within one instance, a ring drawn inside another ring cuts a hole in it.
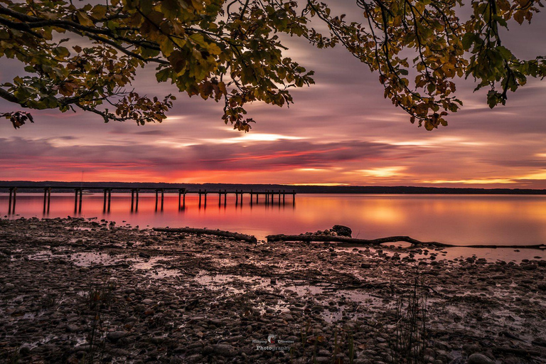
[{"label": "long driftwood log beside the dark boulder, reaching the right edge", "polygon": [[424,245],[431,247],[508,247],[508,248],[531,248],[531,249],[546,249],[546,245],[451,245],[444,244],[443,242],[422,242],[414,239],[413,237],[399,235],[380,237],[378,239],[356,239],[346,236],[333,236],[333,235],[267,235],[267,242],[341,242],[340,246],[356,246],[356,245],[380,245],[384,242],[409,242],[412,245]]}]

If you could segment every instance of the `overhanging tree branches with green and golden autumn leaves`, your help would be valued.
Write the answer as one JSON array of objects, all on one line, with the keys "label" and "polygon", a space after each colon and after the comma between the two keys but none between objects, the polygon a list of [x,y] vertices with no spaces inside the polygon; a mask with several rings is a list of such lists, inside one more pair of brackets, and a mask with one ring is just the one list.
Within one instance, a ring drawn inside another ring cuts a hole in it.
[{"label": "overhanging tree branches with green and golden autumn leaves", "polygon": [[[288,105],[291,87],[314,83],[313,71],[284,57],[282,34],[318,48],[342,45],[427,130],[462,105],[458,77],[489,87],[494,107],[527,77],[546,75],[544,57],[521,60],[500,35],[530,22],[541,0],[472,0],[466,21],[459,0],[354,1],[360,23],[316,0],[0,0],[0,56],[25,70],[0,85],[0,97],[28,109],[95,112],[105,122],[161,122],[175,97],[129,90],[137,70],[154,65],[158,82],[223,101],[225,123],[246,132],[246,104]],[[14,127],[33,121],[24,111],[2,116]]]}]

